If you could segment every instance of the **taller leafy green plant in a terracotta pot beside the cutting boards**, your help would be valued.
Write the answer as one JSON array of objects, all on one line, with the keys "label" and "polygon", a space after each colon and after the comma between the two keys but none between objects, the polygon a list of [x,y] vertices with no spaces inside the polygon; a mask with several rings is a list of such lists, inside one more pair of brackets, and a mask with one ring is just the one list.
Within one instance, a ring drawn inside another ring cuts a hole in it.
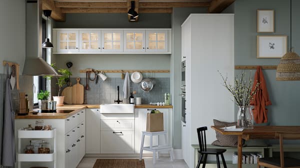
[{"label": "taller leafy green plant in a terracotta pot beside the cutting boards", "polygon": [[[56,101],[57,106],[63,106],[64,96],[60,96],[60,90],[67,83],[69,76],[72,75],[72,72],[70,72],[68,69],[63,69],[63,68],[57,69],[55,67],[55,63],[51,64],[51,66],[62,75],[62,76],[55,76],[57,80],[56,85],[58,86],[58,94],[57,96],[53,96],[53,100]],[[47,78],[51,78],[51,76],[47,76]]]}]

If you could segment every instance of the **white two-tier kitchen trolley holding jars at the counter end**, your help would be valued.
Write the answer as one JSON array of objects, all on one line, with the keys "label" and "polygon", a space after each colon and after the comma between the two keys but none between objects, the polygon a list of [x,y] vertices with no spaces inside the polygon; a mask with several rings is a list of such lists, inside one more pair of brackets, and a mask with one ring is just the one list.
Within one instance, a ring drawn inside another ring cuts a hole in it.
[{"label": "white two-tier kitchen trolley holding jars at the counter end", "polygon": [[[55,131],[56,129],[52,130],[33,130],[33,131],[27,131],[27,130],[22,130],[19,129],[17,131],[17,137],[18,137],[18,153],[17,153],[17,165],[18,168],[21,168],[21,162],[53,162],[53,167],[51,168],[56,168],[56,140],[55,140]],[[23,153],[23,148],[25,147],[24,144],[22,143],[22,139],[52,139],[53,144],[51,145],[52,147],[50,148],[50,154],[24,154]],[[39,165],[39,164],[38,164]],[[32,164],[33,166],[33,164]],[[35,166],[35,165],[34,165]]]}]

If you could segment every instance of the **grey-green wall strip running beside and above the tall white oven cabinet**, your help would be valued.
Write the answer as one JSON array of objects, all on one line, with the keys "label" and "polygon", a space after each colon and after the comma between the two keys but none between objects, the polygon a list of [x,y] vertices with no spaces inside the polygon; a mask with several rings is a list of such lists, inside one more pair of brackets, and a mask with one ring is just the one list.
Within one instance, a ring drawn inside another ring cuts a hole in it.
[{"label": "grey-green wall strip running beside and above the tall white oven cabinet", "polygon": [[172,13],[172,55],[170,59],[170,90],[173,105],[173,148],[181,149],[181,24],[190,13],[207,13],[205,7],[178,7]]}]

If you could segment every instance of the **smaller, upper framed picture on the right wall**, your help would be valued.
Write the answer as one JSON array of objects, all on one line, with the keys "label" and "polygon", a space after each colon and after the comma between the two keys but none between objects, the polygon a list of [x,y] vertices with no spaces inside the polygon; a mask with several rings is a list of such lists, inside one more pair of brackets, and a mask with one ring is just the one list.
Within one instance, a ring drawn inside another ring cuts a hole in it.
[{"label": "smaller, upper framed picture on the right wall", "polygon": [[274,10],[257,9],[257,32],[274,32]]}]

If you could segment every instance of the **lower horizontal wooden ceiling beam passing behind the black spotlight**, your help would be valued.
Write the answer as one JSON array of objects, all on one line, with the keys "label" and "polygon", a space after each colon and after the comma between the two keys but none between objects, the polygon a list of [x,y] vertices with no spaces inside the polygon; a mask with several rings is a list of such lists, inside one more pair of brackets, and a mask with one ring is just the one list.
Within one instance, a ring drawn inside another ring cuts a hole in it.
[{"label": "lower horizontal wooden ceiling beam passing behind the black spotlight", "polygon": [[[172,8],[139,8],[139,13],[172,13]],[[62,13],[127,13],[126,8],[61,8]]]}]

